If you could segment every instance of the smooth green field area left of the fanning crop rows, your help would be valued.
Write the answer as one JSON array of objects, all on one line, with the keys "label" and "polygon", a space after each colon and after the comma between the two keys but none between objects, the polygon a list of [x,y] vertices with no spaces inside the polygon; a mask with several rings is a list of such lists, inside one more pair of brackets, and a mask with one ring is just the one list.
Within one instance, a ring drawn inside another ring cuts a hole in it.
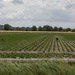
[{"label": "smooth green field area left of the fanning crop rows", "polygon": [[36,33],[0,33],[0,50],[20,50],[41,38],[43,35]]}]

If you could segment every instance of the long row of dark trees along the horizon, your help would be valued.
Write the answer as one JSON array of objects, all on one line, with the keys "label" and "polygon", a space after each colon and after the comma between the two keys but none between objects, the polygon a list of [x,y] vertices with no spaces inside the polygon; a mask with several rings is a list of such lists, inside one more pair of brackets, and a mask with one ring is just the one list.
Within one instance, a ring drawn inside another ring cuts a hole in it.
[{"label": "long row of dark trees along the horizon", "polygon": [[63,28],[63,27],[52,27],[50,25],[44,25],[44,26],[39,26],[36,27],[35,25],[32,27],[12,27],[9,24],[4,24],[3,25],[4,30],[17,30],[17,31],[72,31],[75,32],[75,28]]}]

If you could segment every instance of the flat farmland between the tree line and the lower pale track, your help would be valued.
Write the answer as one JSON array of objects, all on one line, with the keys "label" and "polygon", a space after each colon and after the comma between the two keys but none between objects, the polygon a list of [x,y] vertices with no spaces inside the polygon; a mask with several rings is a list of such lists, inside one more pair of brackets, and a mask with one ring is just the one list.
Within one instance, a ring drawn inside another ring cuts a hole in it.
[{"label": "flat farmland between the tree line and the lower pale track", "polygon": [[51,57],[75,58],[75,33],[0,33],[0,58]]}]

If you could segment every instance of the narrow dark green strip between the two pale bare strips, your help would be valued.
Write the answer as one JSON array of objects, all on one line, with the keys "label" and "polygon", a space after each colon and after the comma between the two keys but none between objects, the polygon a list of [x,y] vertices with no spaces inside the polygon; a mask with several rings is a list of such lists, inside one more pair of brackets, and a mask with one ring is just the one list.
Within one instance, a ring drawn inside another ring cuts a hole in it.
[{"label": "narrow dark green strip between the two pale bare strips", "polygon": [[0,53],[0,58],[75,58],[69,53]]}]

